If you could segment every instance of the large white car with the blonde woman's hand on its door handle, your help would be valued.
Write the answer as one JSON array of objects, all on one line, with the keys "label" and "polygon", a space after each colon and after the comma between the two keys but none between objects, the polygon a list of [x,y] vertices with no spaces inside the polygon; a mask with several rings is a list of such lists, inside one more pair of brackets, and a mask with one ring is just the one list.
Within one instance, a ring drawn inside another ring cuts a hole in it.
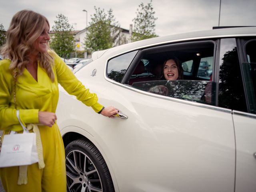
[{"label": "large white car with the blonde woman's hand on its door handle", "polygon": [[[60,88],[67,190],[255,192],[255,49],[256,27],[240,27],[94,52],[76,76],[120,113],[106,118]],[[159,80],[172,56],[184,80]],[[202,61],[211,75],[198,74]],[[159,85],[168,94],[149,92]]]}]

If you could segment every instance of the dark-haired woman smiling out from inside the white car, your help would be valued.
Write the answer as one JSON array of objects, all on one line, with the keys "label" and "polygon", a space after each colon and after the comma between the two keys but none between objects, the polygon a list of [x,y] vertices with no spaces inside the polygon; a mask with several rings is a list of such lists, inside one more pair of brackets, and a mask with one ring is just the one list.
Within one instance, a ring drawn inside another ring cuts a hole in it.
[{"label": "dark-haired woman smiling out from inside the white car", "polygon": [[[176,57],[168,58],[164,61],[161,70],[160,80],[182,80],[183,69],[180,60]],[[149,92],[168,95],[168,88],[164,85],[157,85],[150,88]]]}]

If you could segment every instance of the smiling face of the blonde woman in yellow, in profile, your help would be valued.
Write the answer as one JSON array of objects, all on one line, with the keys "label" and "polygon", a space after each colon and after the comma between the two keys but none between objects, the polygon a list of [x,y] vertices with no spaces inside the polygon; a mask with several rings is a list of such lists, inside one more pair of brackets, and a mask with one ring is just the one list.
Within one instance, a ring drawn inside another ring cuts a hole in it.
[{"label": "smiling face of the blonde woman in yellow, in profile", "polygon": [[37,55],[39,52],[46,52],[48,50],[48,42],[50,40],[49,36],[49,26],[47,22],[45,23],[44,29],[40,36],[35,40],[33,47],[33,53]]}]

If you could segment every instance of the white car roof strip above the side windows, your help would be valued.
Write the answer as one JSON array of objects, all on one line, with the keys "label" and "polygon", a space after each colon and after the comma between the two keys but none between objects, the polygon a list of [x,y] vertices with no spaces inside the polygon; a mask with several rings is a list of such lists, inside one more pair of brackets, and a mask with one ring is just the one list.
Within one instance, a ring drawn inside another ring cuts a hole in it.
[{"label": "white car roof strip above the side windows", "polygon": [[[156,38],[150,38],[146,40],[140,40],[136,42],[131,42],[128,44],[116,46],[108,50],[103,50],[104,55],[115,55],[122,52],[127,52],[128,50],[137,50],[148,45],[157,45],[175,41],[187,41],[187,40],[200,40],[208,38],[222,38],[222,37],[238,37],[238,36],[256,36],[256,26],[254,27],[234,27],[234,28],[220,28],[213,30],[203,30],[196,32],[188,32],[182,34],[173,34],[168,36],[161,36]],[[95,54],[99,54],[96,52]],[[102,54],[102,55],[103,55]],[[92,56],[93,57],[93,56]],[[93,57],[95,58],[95,57]],[[98,57],[99,58],[99,57]]]}]

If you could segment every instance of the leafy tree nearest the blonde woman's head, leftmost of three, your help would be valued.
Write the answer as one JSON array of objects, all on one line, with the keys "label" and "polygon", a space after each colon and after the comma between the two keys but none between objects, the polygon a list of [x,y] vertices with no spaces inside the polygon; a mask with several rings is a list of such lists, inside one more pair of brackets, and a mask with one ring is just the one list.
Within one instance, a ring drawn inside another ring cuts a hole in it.
[{"label": "leafy tree nearest the blonde woman's head, leftmost of three", "polygon": [[50,46],[60,57],[67,58],[71,52],[74,52],[75,48],[74,36],[72,35],[74,28],[63,14],[58,14],[56,18],[55,25],[52,26],[54,35]]}]

